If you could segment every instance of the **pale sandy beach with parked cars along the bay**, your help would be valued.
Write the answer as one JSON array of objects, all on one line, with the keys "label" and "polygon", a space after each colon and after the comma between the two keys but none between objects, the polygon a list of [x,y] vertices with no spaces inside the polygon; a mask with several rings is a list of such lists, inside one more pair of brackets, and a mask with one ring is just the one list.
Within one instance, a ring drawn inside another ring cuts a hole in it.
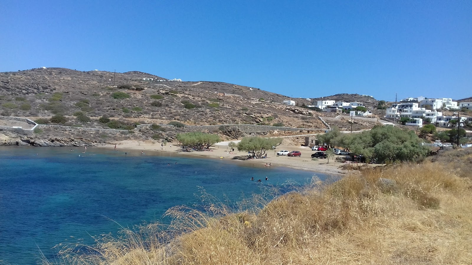
[{"label": "pale sandy beach with parked cars along the bay", "polygon": [[[97,146],[97,148],[104,148],[104,149],[114,149],[115,145],[105,145],[105,146]],[[265,164],[270,164],[271,166],[286,166],[296,169],[302,170],[309,170],[313,172],[319,172],[323,174],[331,174],[331,175],[339,175],[339,174],[346,174],[346,171],[341,170],[338,168],[343,164],[340,162],[335,162],[334,157],[329,159],[329,163],[327,163],[327,159],[318,159],[318,161],[313,161],[311,158],[312,151],[309,147],[304,146],[278,146],[275,150],[269,150],[267,152],[267,158],[263,159],[250,159],[250,160],[238,160],[232,159],[233,157],[240,157],[240,156],[247,156],[248,154],[243,151],[231,151],[228,147],[227,142],[222,142],[221,144],[215,144],[210,149],[211,151],[191,151],[191,152],[183,152],[180,146],[174,144],[167,144],[161,147],[160,142],[151,142],[151,141],[119,141],[116,143],[116,149],[121,151],[129,151],[129,152],[136,152],[136,154],[140,154],[141,151],[144,154],[150,155],[151,152],[157,153],[172,153],[182,156],[194,156],[194,157],[208,157],[208,158],[217,158],[217,159],[225,159],[228,161],[234,161],[234,163],[241,163],[241,164],[256,164],[264,166]],[[298,150],[302,153],[301,157],[287,157],[287,156],[277,156],[277,152],[279,150]],[[223,158],[220,158],[223,157]]]}]

